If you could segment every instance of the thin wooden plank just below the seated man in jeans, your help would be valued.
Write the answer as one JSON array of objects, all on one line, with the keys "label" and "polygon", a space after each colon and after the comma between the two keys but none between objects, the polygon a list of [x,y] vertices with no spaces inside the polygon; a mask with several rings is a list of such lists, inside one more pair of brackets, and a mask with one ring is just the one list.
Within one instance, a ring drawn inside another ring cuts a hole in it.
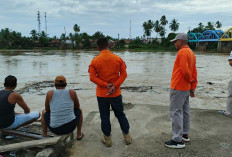
[{"label": "thin wooden plank just below the seated man in jeans", "polygon": [[46,137],[43,137],[41,135],[35,135],[35,134],[32,134],[32,133],[25,133],[23,131],[18,131],[18,130],[0,129],[0,131],[3,132],[3,133],[28,137],[28,138],[32,138],[32,139],[45,139],[46,138]]}]

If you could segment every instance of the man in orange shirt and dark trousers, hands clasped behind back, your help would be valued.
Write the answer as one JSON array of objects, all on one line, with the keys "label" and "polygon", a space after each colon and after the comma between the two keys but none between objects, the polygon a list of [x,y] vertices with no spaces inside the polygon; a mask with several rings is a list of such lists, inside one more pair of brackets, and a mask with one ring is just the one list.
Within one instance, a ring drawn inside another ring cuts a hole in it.
[{"label": "man in orange shirt and dark trousers, hands clasped behind back", "polygon": [[130,126],[123,112],[120,90],[120,85],[127,77],[126,65],[119,56],[110,52],[106,38],[98,39],[97,47],[100,54],[89,65],[89,76],[90,81],[97,85],[96,95],[101,117],[101,129],[104,134],[102,142],[107,147],[112,145],[110,124],[111,105],[119,121],[126,144],[131,144]]}]

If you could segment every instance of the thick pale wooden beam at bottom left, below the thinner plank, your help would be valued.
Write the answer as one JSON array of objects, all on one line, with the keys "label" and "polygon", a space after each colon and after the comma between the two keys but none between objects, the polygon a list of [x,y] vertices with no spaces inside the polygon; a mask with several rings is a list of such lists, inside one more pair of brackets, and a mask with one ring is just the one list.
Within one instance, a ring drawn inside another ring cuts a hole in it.
[{"label": "thick pale wooden beam at bottom left, below the thinner plank", "polygon": [[54,145],[58,143],[61,137],[62,136],[58,136],[58,137],[53,137],[53,138],[19,142],[19,143],[14,143],[14,144],[8,144],[5,146],[0,146],[0,153],[17,150],[17,149],[26,149],[26,148],[32,148],[32,147]]}]

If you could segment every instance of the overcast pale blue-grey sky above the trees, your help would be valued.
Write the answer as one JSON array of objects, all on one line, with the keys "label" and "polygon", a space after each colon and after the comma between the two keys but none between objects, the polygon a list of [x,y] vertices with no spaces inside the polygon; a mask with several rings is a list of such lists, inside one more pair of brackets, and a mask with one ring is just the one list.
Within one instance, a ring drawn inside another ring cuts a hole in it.
[{"label": "overcast pale blue-grey sky above the trees", "polygon": [[[221,21],[223,30],[232,27],[232,0],[0,0],[0,28],[10,28],[30,36],[38,30],[37,12],[40,11],[41,30],[45,30],[44,12],[47,13],[47,30],[50,37],[73,33],[73,25],[80,32],[92,35],[96,31],[114,38],[133,38],[143,35],[143,22],[177,19],[177,32],[187,32],[188,27],[204,25],[208,21]],[[169,24],[166,26],[170,32]],[[156,36],[153,32],[152,36]]]}]

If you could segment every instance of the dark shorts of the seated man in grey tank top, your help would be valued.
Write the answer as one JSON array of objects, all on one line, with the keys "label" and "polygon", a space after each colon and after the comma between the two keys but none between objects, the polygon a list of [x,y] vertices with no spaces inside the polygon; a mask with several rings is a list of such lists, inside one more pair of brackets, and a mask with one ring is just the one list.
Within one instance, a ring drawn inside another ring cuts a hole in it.
[{"label": "dark shorts of the seated man in grey tank top", "polygon": [[66,124],[63,124],[57,128],[52,128],[50,126],[50,112],[45,112],[44,120],[46,122],[47,127],[51,130],[52,133],[56,135],[64,135],[64,134],[69,134],[73,132],[75,128],[77,127],[78,122],[80,121],[81,110],[80,109],[74,110],[74,114],[76,116],[74,120]]}]

